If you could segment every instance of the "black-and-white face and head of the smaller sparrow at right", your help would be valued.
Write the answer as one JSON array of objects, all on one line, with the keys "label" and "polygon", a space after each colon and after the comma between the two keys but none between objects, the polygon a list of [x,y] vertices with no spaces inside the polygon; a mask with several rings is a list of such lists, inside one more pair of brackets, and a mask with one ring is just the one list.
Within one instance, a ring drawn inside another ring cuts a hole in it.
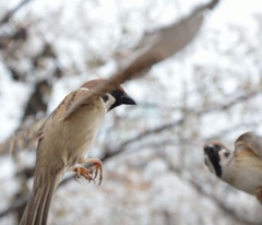
[{"label": "black-and-white face and head of the smaller sparrow at right", "polygon": [[219,142],[209,142],[204,145],[204,161],[205,165],[212,174],[222,178],[223,167],[228,164],[233,152]]}]

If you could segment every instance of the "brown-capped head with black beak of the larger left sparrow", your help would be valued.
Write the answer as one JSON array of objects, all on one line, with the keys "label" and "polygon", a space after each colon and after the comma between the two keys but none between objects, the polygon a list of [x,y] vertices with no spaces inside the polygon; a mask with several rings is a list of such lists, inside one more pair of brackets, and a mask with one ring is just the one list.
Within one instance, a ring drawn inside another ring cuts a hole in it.
[{"label": "brown-capped head with black beak of the larger left sparrow", "polygon": [[136,105],[133,98],[131,98],[120,85],[115,85],[108,80],[96,79],[86,82],[82,85],[88,90],[94,90],[99,93],[104,100],[107,111],[120,106],[120,105]]}]

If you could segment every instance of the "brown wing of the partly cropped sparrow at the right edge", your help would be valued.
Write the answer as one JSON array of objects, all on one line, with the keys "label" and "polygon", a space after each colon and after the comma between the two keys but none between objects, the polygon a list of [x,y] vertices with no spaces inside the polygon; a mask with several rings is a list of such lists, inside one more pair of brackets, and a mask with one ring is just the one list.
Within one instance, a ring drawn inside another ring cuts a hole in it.
[{"label": "brown wing of the partly cropped sparrow at the right edge", "polygon": [[254,132],[247,132],[241,134],[235,142],[236,151],[242,147],[253,152],[259,158],[262,159],[262,137]]}]

